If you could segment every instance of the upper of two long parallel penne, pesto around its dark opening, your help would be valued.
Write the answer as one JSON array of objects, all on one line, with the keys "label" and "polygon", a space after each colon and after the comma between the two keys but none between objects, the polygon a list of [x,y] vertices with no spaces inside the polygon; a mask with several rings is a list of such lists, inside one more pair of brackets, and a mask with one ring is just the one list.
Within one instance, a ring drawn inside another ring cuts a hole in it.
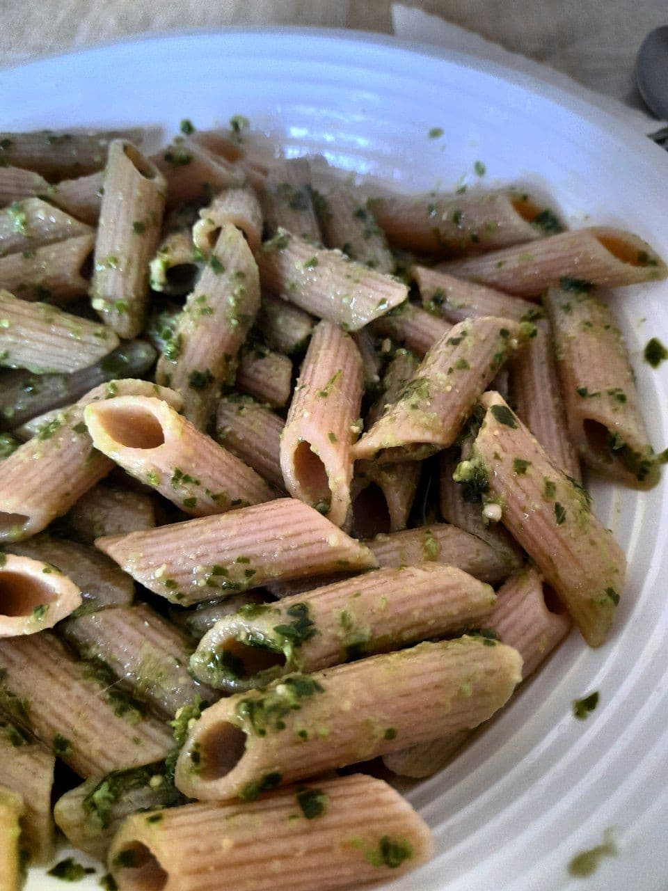
[{"label": "upper of two long parallel penne, pesto around its dark opening", "polygon": [[377,569],[337,584],[241,607],[204,635],[191,671],[228,692],[264,687],[371,653],[461,634],[486,624],[489,584],[441,563]]}]

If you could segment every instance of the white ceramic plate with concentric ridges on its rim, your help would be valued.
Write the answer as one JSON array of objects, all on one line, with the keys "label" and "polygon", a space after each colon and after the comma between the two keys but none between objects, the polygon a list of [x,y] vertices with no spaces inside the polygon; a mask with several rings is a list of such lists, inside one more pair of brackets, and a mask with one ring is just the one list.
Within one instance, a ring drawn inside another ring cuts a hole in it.
[{"label": "white ceramic plate with concentric ridges on its rim", "polygon": [[[149,39],[0,73],[3,129],[157,124],[175,131],[241,113],[289,154],[410,190],[461,177],[554,195],[572,225],[624,225],[668,254],[668,155],[558,89],[466,56],[388,38],[315,30],[229,30]],[[428,130],[444,136],[429,139]],[[641,360],[668,343],[664,282],[615,298],[657,449],[668,444],[668,367]],[[668,500],[594,484],[597,511],[630,561],[615,633],[600,650],[573,634],[485,734],[412,789],[438,854],[398,881],[415,891],[668,887]],[[573,699],[600,692],[574,720]],[[567,863],[614,827],[618,855],[588,880]],[[62,887],[37,873],[30,891]],[[81,891],[98,887],[94,879]]]}]

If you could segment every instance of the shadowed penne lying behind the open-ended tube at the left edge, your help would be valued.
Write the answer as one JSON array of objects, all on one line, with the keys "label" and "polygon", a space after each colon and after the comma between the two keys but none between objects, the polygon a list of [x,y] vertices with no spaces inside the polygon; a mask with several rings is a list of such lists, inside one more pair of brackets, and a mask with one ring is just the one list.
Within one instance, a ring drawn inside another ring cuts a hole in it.
[{"label": "shadowed penne lying behind the open-ended tube at the left edge", "polygon": [[77,615],[104,607],[123,606],[133,599],[134,582],[130,576],[121,572],[109,557],[84,544],[44,534],[25,542],[12,542],[9,550],[22,557],[50,563],[68,576],[81,592],[83,603],[77,609]]}]

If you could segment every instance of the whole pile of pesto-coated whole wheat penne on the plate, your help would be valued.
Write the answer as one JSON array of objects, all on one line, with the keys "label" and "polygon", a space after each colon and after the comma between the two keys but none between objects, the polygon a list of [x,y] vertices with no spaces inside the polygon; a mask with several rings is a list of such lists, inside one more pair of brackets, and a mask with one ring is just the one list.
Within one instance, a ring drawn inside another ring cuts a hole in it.
[{"label": "whole pile of pesto-coated whole wheat penne on the plate", "polygon": [[571,623],[605,642],[625,560],[581,462],[648,488],[663,459],[603,290],[666,277],[644,241],[182,129],[0,134],[7,891],[53,817],[127,891],[424,862],[387,779]]}]

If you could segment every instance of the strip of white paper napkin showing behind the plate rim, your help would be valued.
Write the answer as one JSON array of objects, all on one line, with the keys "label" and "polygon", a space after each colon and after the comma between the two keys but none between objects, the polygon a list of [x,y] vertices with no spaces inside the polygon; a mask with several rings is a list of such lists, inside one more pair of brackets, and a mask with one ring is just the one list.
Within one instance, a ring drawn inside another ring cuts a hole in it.
[{"label": "strip of white paper napkin showing behind the plate rim", "polygon": [[640,133],[655,133],[662,127],[660,121],[645,114],[644,111],[630,108],[623,102],[590,90],[573,78],[569,78],[566,74],[547,65],[541,65],[519,53],[509,53],[502,46],[485,40],[485,37],[480,37],[473,31],[460,28],[459,25],[452,25],[440,16],[430,15],[428,12],[422,12],[420,9],[403,4],[392,4],[392,22],[395,36],[402,40],[441,46],[458,53],[468,53],[468,55],[477,56],[480,59],[499,62],[501,65],[521,71],[534,78],[540,78],[553,86],[558,86],[576,98],[585,99],[592,105],[598,106],[599,109],[622,118]]}]

